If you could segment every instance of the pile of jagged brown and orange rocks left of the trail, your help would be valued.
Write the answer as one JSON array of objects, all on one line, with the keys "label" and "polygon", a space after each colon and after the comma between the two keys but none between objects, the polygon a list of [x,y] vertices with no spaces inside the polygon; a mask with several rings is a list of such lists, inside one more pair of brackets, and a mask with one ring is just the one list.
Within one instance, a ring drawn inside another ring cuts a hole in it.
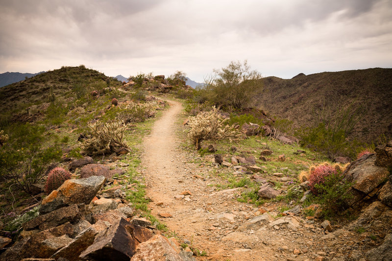
[{"label": "pile of jagged brown and orange rocks left of the trail", "polygon": [[149,220],[134,216],[120,198],[98,199],[105,182],[104,176],[65,181],[42,201],[39,215],[23,225],[0,260],[194,260],[192,252],[161,236]]}]

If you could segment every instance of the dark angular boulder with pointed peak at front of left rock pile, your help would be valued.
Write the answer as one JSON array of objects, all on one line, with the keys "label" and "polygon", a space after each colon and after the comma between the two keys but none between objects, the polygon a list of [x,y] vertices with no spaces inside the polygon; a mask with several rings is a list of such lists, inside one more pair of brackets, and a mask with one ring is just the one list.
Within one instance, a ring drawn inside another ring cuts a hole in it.
[{"label": "dark angular boulder with pointed peak at front of left rock pile", "polygon": [[151,236],[152,233],[148,229],[120,218],[105,234],[99,235],[94,243],[81,253],[80,258],[129,261],[135,254],[136,247]]}]

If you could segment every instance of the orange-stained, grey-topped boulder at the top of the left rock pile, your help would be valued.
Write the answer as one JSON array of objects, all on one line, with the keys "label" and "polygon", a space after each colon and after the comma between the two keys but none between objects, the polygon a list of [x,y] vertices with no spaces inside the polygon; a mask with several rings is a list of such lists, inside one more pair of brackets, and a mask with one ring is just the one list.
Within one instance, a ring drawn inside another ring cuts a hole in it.
[{"label": "orange-stained, grey-topped boulder at the top of the left rock pile", "polygon": [[53,190],[44,198],[40,214],[46,214],[73,204],[90,204],[105,181],[106,178],[103,176],[66,180],[60,188]]}]

